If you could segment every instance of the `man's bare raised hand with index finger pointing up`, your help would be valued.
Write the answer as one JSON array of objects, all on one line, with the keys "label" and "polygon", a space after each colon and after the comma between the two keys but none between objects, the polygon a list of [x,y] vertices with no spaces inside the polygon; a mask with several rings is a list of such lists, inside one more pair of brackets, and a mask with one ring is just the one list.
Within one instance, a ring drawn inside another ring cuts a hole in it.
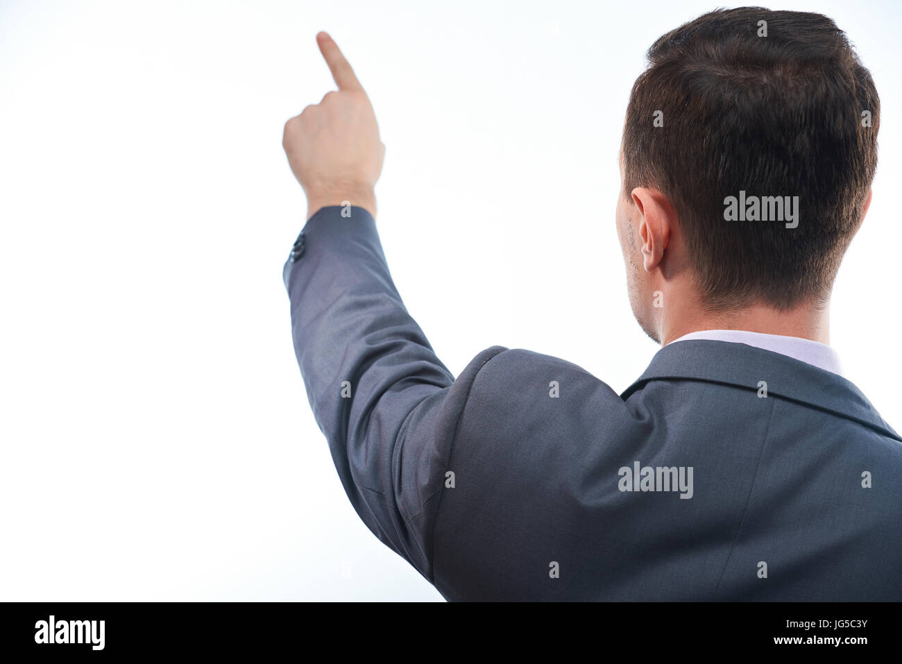
[{"label": "man's bare raised hand with index finger pointing up", "polygon": [[373,189],[382,172],[385,146],[373,106],[354,69],[326,32],[317,35],[319,51],[338,91],[327,92],[285,123],[282,147],[294,177],[307,194],[307,217],[327,205],[351,205],[376,214]]}]

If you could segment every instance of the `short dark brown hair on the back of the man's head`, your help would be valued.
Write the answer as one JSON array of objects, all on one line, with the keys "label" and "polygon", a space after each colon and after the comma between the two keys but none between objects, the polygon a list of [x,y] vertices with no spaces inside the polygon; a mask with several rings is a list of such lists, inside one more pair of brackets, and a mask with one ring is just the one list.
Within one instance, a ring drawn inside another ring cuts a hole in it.
[{"label": "short dark brown hair on the back of the man's head", "polygon": [[[822,14],[717,10],[648,59],[624,123],[623,194],[667,196],[708,309],[823,302],[877,168],[877,88],[845,33]],[[741,191],[797,196],[798,226],[726,220]]]}]

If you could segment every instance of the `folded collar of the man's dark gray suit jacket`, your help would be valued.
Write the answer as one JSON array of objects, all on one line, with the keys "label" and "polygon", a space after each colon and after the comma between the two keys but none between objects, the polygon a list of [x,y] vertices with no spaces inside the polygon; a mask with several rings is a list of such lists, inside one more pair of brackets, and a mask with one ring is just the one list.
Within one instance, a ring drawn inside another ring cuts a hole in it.
[{"label": "folded collar of the man's dark gray suit jacket", "polygon": [[828,410],[880,433],[902,440],[853,383],[840,375],[787,355],[729,341],[686,339],[668,344],[651,359],[649,368],[621,394],[625,400],[649,381],[694,380],[736,385]]}]

